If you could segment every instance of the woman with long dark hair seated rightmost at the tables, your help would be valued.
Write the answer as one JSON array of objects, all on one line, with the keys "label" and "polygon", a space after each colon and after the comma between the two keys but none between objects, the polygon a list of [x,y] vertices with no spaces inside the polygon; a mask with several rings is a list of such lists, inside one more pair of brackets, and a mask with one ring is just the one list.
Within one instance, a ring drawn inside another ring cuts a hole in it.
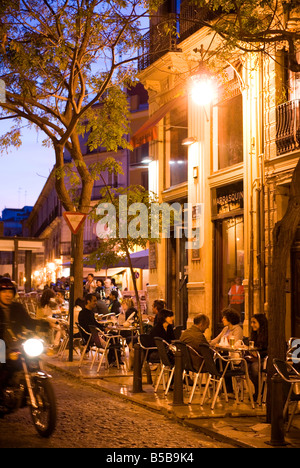
[{"label": "woman with long dark hair seated rightmost at the tables", "polygon": [[[261,363],[262,360],[267,356],[268,352],[268,320],[265,314],[254,314],[251,317],[251,338],[250,340],[254,342],[254,347],[257,348],[260,354]],[[253,395],[254,401],[257,400],[258,396],[258,376],[259,376],[259,359],[256,351],[251,351],[248,356],[246,356],[249,369],[249,377],[253,382],[255,392]]]}]

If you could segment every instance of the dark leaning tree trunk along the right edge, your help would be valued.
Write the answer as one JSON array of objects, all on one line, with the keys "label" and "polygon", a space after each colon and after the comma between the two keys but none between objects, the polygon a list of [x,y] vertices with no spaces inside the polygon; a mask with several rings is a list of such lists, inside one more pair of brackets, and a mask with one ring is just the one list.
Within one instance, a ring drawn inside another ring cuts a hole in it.
[{"label": "dark leaning tree trunk along the right edge", "polygon": [[291,247],[300,223],[300,159],[294,171],[290,187],[287,211],[273,230],[272,265],[269,272],[269,345],[268,345],[268,401],[267,420],[271,415],[271,377],[274,374],[273,359],[285,359],[286,355],[286,273]]}]

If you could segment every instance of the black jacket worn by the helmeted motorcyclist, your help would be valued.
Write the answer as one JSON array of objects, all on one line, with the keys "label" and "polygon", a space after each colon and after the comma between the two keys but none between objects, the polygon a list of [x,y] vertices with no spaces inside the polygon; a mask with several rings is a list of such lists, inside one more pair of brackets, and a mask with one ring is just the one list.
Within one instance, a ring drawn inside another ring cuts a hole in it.
[{"label": "black jacket worn by the helmeted motorcyclist", "polygon": [[[10,306],[9,326],[15,335],[22,333],[23,329],[35,331],[40,326],[41,331],[48,331],[49,324],[45,320],[34,320],[30,317],[26,309],[19,302],[13,302]],[[4,339],[4,332],[7,324],[5,314],[0,306],[0,339]]]}]

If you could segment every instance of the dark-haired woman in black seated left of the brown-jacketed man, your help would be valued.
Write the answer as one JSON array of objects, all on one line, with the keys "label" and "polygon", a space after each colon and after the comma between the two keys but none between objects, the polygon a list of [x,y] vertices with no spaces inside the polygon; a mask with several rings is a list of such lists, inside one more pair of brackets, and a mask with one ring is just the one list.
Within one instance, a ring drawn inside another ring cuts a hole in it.
[{"label": "dark-haired woman in black seated left of the brown-jacketed man", "polygon": [[[151,337],[151,346],[155,347],[154,338],[159,337],[163,340],[167,341],[167,343],[171,343],[175,340],[175,334],[173,330],[173,322],[174,322],[174,313],[172,310],[169,309],[162,309],[157,314],[156,325],[151,329],[149,336]],[[174,356],[170,355],[172,359]],[[148,361],[150,362],[159,362],[159,354],[158,351],[153,350],[148,355]]]}]

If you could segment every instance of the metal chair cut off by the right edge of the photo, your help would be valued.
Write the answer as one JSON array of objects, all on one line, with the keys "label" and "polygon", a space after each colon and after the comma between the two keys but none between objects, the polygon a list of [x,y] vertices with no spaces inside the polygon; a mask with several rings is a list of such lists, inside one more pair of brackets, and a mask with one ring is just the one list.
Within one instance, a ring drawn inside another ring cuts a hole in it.
[{"label": "metal chair cut off by the right edge of the photo", "polygon": [[300,401],[300,394],[295,393],[295,386],[300,384],[300,373],[291,364],[286,361],[282,361],[281,359],[273,359],[273,365],[285,382],[284,393],[286,396],[286,402],[283,409],[283,419],[285,419],[288,414],[289,404],[294,403],[286,428],[286,431],[288,432],[295,416],[298,402]]}]

